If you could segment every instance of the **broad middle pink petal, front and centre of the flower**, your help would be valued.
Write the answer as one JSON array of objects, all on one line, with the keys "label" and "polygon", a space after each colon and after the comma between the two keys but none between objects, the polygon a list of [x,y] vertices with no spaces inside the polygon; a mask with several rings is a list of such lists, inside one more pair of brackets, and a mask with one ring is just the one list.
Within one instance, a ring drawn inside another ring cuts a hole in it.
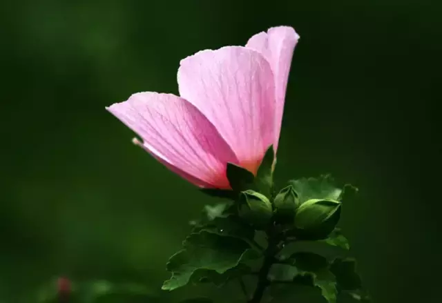
[{"label": "broad middle pink petal, front and centre of the flower", "polygon": [[211,121],[239,163],[256,173],[274,141],[275,82],[269,62],[241,46],[203,50],[183,59],[180,95]]}]

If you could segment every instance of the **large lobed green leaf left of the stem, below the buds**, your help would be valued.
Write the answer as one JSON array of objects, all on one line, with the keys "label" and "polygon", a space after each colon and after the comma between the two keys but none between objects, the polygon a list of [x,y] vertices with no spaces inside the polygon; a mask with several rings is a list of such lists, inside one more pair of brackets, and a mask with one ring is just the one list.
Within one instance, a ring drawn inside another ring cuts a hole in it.
[{"label": "large lobed green leaf left of the stem, below the buds", "polygon": [[167,263],[172,277],[164,282],[163,290],[172,291],[188,284],[193,275],[198,276],[200,270],[223,274],[238,266],[250,248],[247,242],[238,237],[205,230],[189,235],[183,246]]}]

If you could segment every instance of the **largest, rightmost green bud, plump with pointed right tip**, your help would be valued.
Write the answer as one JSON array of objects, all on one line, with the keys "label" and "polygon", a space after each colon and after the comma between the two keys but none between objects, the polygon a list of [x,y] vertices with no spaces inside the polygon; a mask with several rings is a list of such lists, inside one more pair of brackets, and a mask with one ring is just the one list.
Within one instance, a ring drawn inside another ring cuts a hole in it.
[{"label": "largest, rightmost green bud, plump with pointed right tip", "polygon": [[340,217],[341,203],[332,199],[310,199],[295,215],[296,236],[305,240],[325,239]]}]

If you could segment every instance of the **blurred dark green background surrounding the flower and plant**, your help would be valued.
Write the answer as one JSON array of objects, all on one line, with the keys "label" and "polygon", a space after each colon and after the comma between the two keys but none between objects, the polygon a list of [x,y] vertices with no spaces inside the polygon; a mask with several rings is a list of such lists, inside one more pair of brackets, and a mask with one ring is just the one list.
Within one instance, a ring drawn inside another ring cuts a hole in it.
[{"label": "blurred dark green background surrounding the flower and plant", "polygon": [[160,292],[211,200],[104,107],[176,94],[180,59],[278,25],[301,39],[277,180],[358,186],[341,226],[374,302],[438,302],[441,12],[426,0],[2,1],[0,302],[58,275]]}]

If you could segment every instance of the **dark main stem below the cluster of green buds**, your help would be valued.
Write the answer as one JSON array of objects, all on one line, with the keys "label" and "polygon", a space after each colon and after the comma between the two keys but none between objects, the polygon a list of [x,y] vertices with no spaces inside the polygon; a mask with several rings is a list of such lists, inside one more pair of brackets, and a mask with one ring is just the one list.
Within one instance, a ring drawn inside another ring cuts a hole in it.
[{"label": "dark main stem below the cluster of green buds", "polygon": [[255,292],[253,293],[253,296],[248,303],[261,302],[262,297],[264,296],[264,292],[267,289],[267,286],[269,286],[270,284],[267,276],[269,275],[271,266],[275,262],[275,255],[280,250],[280,248],[278,247],[278,243],[280,242],[280,240],[273,232],[273,228],[269,228],[267,236],[269,239],[269,243],[264,252],[264,261],[262,262],[262,266],[260,268],[260,271],[258,272],[258,284],[256,285]]}]

